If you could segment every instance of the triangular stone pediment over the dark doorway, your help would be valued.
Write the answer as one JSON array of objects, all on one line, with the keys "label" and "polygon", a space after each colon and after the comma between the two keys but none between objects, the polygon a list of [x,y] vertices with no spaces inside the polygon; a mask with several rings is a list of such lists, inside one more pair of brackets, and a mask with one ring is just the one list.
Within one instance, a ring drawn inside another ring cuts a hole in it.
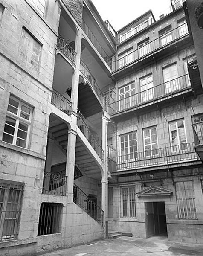
[{"label": "triangular stone pediment over the dark doorway", "polygon": [[168,189],[163,189],[158,186],[150,186],[140,192],[137,193],[138,197],[141,196],[166,196],[166,195],[172,195],[173,192]]}]

